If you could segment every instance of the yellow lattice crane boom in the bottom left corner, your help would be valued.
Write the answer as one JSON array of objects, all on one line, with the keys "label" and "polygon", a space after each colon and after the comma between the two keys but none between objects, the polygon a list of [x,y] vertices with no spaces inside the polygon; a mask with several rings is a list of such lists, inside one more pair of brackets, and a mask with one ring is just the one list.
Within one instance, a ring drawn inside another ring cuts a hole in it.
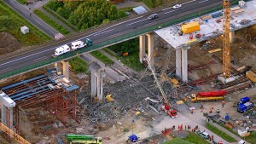
[{"label": "yellow lattice crane boom in the bottom left corner", "polygon": [[15,141],[18,141],[20,144],[30,144],[30,142],[26,141],[23,137],[16,134],[13,130],[10,130],[9,127],[4,125],[3,123],[0,123],[0,130],[5,132],[11,138],[15,139]]}]

